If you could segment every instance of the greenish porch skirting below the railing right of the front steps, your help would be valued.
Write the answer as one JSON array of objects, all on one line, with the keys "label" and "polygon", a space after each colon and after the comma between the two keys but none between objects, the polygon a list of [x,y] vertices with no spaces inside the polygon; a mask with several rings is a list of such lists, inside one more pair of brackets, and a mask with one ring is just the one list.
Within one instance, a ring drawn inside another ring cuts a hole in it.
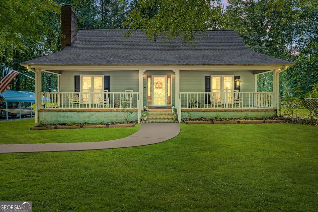
[{"label": "greenish porch skirting below the railing right of the front steps", "polygon": [[[181,110],[181,118],[188,117],[189,109]],[[216,110],[216,109],[193,109],[191,113],[192,118],[244,118],[244,117],[273,117],[276,116],[276,110],[272,109],[227,109],[227,110]]]}]

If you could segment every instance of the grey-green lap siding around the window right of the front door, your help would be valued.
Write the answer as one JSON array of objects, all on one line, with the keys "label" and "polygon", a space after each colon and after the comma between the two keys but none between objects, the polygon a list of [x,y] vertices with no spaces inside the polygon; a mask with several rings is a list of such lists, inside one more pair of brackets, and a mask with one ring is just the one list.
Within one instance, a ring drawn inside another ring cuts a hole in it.
[{"label": "grey-green lap siding around the window right of the front door", "polygon": [[239,75],[240,91],[255,91],[255,78],[251,71],[180,71],[180,92],[204,92],[204,76],[210,75]]}]

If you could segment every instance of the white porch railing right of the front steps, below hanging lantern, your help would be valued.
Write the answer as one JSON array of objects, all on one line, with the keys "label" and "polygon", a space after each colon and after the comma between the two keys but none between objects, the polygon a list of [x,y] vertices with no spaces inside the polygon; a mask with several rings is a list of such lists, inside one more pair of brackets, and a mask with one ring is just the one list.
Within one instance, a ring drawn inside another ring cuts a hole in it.
[{"label": "white porch railing right of the front steps, below hanging lantern", "polygon": [[181,109],[273,109],[273,92],[179,92]]}]

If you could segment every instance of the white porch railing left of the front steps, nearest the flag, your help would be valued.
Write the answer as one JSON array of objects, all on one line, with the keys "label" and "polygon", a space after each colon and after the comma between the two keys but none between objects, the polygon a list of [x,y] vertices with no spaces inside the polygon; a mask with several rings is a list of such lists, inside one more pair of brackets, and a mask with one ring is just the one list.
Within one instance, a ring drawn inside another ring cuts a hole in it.
[{"label": "white porch railing left of the front steps, nearest the flag", "polygon": [[139,92],[40,92],[40,109],[137,109]]}]

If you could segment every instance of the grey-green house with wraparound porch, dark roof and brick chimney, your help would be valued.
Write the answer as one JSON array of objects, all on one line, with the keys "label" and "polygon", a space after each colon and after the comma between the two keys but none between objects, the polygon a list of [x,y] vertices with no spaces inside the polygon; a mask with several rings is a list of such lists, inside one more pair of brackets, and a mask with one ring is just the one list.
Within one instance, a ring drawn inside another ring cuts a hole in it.
[{"label": "grey-green house with wraparound porch, dark roof and brick chimney", "polygon": [[[174,106],[179,121],[189,110],[192,117],[271,117],[279,110],[279,73],[294,64],[252,51],[233,30],[209,30],[189,48],[180,38],[164,44],[142,31],[128,38],[127,30],[77,31],[72,7],[61,12],[62,50],[21,63],[36,74],[37,123],[121,121],[124,105],[138,122],[143,106]],[[58,92],[42,92],[42,72],[58,75]],[[273,92],[257,92],[256,76],[266,72],[273,72]]]}]

